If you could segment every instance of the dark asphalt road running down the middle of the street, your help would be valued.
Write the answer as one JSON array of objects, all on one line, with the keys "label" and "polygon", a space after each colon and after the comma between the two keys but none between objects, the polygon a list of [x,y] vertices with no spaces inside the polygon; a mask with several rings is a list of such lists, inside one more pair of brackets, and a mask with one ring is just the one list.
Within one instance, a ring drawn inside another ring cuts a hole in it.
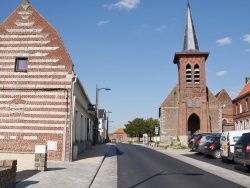
[{"label": "dark asphalt road running down the middle of the street", "polygon": [[118,188],[241,188],[170,156],[137,145],[117,144]]}]

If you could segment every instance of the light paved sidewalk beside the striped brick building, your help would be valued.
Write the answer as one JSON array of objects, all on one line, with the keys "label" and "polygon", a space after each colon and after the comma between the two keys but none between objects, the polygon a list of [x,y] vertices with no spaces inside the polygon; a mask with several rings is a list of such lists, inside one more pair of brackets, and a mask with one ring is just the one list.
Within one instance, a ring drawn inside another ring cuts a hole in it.
[{"label": "light paved sidewalk beside the striped brick building", "polygon": [[92,146],[74,162],[48,162],[48,170],[17,173],[17,188],[88,188],[98,172],[110,144]]}]

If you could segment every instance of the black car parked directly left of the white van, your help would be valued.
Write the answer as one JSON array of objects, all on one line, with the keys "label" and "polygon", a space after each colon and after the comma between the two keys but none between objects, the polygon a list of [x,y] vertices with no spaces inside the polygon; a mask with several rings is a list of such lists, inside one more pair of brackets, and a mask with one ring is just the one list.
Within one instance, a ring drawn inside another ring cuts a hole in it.
[{"label": "black car parked directly left of the white van", "polygon": [[204,144],[201,151],[204,155],[213,156],[215,159],[220,159],[220,136],[212,136],[211,142]]}]

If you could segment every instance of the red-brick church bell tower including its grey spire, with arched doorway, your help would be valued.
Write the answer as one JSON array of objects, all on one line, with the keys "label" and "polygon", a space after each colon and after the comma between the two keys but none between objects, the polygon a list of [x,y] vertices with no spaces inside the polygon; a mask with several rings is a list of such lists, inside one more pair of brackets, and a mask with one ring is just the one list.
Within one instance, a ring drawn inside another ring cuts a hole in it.
[{"label": "red-brick church bell tower including its grey spire, with arched doorway", "polygon": [[183,50],[176,52],[178,66],[179,118],[178,135],[209,131],[208,91],[205,62],[209,52],[199,51],[189,3],[187,4]]}]

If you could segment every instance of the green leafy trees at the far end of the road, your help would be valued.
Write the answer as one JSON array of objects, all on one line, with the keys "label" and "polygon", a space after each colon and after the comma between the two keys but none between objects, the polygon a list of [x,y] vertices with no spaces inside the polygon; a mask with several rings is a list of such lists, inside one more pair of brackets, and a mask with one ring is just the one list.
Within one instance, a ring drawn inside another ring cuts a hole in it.
[{"label": "green leafy trees at the far end of the road", "polygon": [[129,121],[125,125],[124,130],[130,137],[142,137],[144,133],[149,137],[154,136],[155,127],[159,127],[159,121],[157,119],[148,118],[135,118],[133,121]]}]

